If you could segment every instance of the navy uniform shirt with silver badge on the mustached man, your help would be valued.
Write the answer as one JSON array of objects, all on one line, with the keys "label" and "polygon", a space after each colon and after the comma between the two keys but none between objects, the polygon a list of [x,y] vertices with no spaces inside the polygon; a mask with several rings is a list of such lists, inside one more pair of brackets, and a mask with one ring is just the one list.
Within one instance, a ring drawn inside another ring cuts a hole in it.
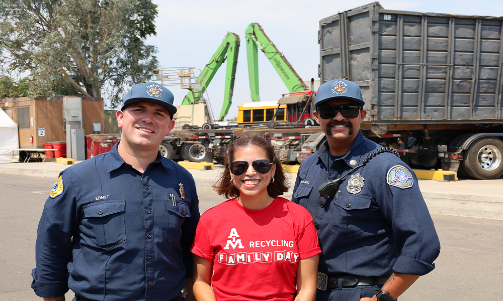
[{"label": "navy uniform shirt with silver badge on the mustached man", "polygon": [[424,275],[435,268],[440,252],[435,226],[417,178],[395,155],[374,157],[345,178],[331,199],[318,192],[323,182],[342,177],[380,147],[360,131],[348,154],[330,168],[327,142],[300,166],[292,201],[314,219],[322,273],[389,277],[392,272]]}]

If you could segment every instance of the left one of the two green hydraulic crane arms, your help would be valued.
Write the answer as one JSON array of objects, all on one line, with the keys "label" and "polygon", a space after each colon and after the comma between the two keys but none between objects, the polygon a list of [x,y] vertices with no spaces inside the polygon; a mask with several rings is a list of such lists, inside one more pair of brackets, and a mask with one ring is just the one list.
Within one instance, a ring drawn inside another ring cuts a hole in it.
[{"label": "left one of the two green hydraulic crane arms", "polygon": [[193,89],[184,98],[182,105],[194,104],[196,100],[201,98],[201,95],[206,91],[206,87],[210,84],[213,76],[217,72],[220,65],[227,59],[227,68],[225,73],[225,91],[220,112],[219,120],[223,121],[225,115],[229,111],[232,104],[232,91],[234,90],[234,80],[236,75],[237,55],[239,53],[239,36],[234,33],[228,33],[223,39],[222,44],[211,57],[211,60],[198,77],[198,83],[201,85],[201,90]]}]

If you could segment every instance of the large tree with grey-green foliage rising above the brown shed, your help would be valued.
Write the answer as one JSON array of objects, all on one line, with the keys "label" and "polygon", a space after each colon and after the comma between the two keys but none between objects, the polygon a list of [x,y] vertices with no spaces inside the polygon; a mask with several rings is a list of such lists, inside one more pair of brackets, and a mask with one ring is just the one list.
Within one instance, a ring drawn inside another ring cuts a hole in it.
[{"label": "large tree with grey-green foliage rising above the brown shed", "polygon": [[[70,91],[119,102],[123,87],[150,79],[157,6],[150,0],[2,0],[0,64],[30,71],[30,95]],[[115,103],[112,103],[115,105]]]}]

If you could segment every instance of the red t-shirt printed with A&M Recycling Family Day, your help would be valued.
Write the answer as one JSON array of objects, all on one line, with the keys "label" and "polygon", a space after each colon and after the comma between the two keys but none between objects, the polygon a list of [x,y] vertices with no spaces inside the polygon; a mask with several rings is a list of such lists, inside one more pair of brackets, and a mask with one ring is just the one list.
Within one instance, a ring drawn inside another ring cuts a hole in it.
[{"label": "red t-shirt printed with A&M Recycling Family Day", "polygon": [[218,301],[293,300],[297,262],[321,253],[307,210],[284,198],[250,210],[231,199],[206,211],[191,251],[213,262]]}]

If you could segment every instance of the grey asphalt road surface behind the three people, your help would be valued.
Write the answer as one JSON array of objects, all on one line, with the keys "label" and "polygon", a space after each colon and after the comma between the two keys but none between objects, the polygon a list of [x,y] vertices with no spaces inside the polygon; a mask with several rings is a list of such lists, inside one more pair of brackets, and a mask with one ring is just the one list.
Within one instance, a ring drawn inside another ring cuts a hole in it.
[{"label": "grey asphalt road surface behind the three people", "polygon": [[[30,288],[31,271],[37,225],[56,177],[0,174],[0,300],[42,300]],[[203,212],[223,200],[215,192],[200,193],[199,209]],[[399,300],[501,300],[503,220],[440,214],[432,218],[441,243],[436,268]],[[66,300],[72,298],[69,291]]]}]

